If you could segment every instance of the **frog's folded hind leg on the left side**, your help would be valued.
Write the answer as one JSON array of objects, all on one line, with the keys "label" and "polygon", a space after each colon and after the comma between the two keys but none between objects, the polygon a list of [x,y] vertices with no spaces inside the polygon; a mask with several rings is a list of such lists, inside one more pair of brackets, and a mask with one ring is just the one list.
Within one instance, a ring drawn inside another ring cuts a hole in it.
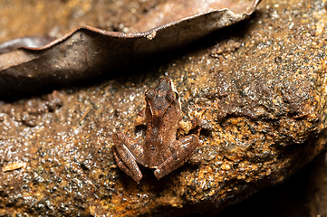
[{"label": "frog's folded hind leg on the left side", "polygon": [[142,179],[139,164],[143,165],[143,146],[134,138],[124,133],[113,134],[113,155],[116,164],[125,174],[129,175],[137,183]]}]

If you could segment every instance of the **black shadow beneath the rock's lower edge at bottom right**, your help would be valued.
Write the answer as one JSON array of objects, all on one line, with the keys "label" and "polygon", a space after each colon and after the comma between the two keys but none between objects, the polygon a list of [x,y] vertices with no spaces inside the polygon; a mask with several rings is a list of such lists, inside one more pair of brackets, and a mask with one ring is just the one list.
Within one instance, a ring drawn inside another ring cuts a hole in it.
[{"label": "black shadow beneath the rock's lower edge at bottom right", "polygon": [[255,193],[242,203],[232,205],[218,212],[215,217],[225,216],[310,216],[308,198],[311,193],[311,179],[314,168],[324,161],[326,152],[322,152],[309,165],[305,165],[284,184],[277,184]]}]

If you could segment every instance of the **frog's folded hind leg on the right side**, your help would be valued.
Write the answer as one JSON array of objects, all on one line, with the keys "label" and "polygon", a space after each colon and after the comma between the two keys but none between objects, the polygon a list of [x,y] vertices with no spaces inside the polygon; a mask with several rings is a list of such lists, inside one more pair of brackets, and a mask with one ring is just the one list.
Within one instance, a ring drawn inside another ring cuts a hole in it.
[{"label": "frog's folded hind leg on the right side", "polygon": [[168,147],[168,152],[171,155],[154,171],[154,175],[160,179],[168,175],[171,171],[176,170],[181,165],[184,165],[192,156],[194,150],[198,145],[197,135],[191,134],[173,142]]}]

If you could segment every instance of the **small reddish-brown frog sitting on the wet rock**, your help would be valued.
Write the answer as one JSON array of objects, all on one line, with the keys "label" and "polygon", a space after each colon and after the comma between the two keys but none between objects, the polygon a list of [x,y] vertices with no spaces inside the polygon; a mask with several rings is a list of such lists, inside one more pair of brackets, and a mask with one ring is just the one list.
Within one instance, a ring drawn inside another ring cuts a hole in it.
[{"label": "small reddish-brown frog sitting on the wet rock", "polygon": [[197,127],[198,118],[184,122],[178,92],[168,78],[145,92],[146,106],[136,119],[136,125],[147,124],[145,144],[139,144],[124,133],[113,135],[113,155],[116,164],[137,183],[142,179],[139,165],[155,168],[160,179],[184,165],[199,144],[197,135],[191,134],[176,140],[178,128],[187,133]]}]

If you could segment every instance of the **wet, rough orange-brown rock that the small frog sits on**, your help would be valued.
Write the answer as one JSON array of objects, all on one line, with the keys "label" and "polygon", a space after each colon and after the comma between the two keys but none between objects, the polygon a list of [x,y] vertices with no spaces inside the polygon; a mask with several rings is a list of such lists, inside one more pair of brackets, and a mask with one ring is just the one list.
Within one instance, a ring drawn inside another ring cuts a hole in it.
[{"label": "wet, rough orange-brown rock that the small frog sits on", "polygon": [[[283,182],[325,148],[325,24],[324,1],[264,1],[249,20],[114,80],[1,101],[0,214],[213,214]],[[206,110],[201,144],[159,181],[142,167],[136,184],[115,165],[111,135],[144,142],[134,120],[161,75],[185,119]]]}]

